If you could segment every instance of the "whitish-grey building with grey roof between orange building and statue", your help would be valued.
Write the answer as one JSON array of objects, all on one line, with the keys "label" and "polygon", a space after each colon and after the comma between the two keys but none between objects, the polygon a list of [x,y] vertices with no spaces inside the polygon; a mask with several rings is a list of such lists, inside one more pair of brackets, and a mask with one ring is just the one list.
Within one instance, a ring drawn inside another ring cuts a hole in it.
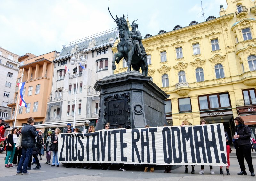
[{"label": "whitish-grey building with grey roof between orange building and statue", "polygon": [[[48,97],[48,105],[45,123],[52,127],[56,123],[70,122],[73,127],[75,115],[75,127],[80,131],[85,129],[85,123],[96,125],[99,112],[99,92],[93,89],[97,80],[112,75],[113,53],[111,47],[118,35],[117,29],[97,33],[95,36],[86,37],[83,40],[71,42],[64,47],[59,56],[53,61],[54,75],[52,93]],[[77,66],[71,65],[71,57],[76,51],[84,51],[85,68],[79,66],[78,81],[76,87],[76,74],[73,69]],[[66,72],[65,66],[70,70]],[[76,111],[75,111],[75,93]],[[86,124],[88,125],[88,124]]]}]

